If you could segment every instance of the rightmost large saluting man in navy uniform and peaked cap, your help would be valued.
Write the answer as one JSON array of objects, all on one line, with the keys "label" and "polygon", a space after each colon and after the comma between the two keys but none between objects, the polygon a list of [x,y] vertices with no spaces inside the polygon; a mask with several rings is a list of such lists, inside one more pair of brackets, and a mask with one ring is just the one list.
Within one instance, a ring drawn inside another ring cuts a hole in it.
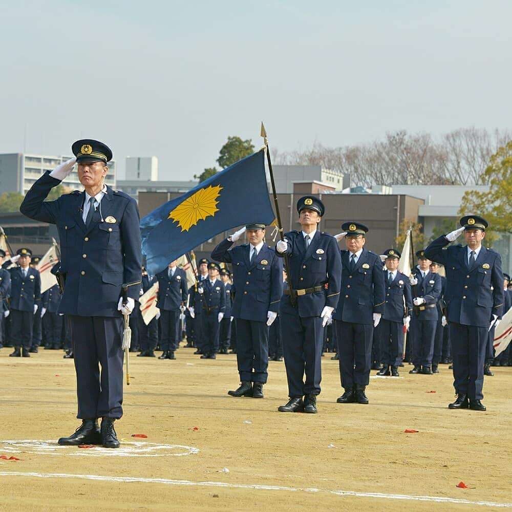
[{"label": "rightmost large saluting man in navy uniform and peaked cap", "polygon": [[[468,215],[462,226],[434,240],[425,255],[446,269],[446,302],[453,376],[457,399],[449,409],[485,411],[483,367],[488,331],[501,319],[503,273],[500,254],[482,245],[488,223],[482,217]],[[464,232],[465,246],[453,245]]]}]

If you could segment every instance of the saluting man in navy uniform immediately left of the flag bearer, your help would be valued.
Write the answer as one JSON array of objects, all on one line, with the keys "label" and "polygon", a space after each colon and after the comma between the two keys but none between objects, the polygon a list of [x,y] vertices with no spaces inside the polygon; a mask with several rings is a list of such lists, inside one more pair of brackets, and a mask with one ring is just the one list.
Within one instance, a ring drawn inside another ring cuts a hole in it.
[{"label": "saluting man in navy uniform immediately left of the flag bearer", "polygon": [[[229,249],[246,232],[248,244]],[[267,382],[268,326],[278,315],[283,293],[283,263],[265,244],[265,224],[247,224],[222,241],[211,257],[233,266],[237,290],[231,314],[237,323],[240,387],[231,396],[263,398]]]}]

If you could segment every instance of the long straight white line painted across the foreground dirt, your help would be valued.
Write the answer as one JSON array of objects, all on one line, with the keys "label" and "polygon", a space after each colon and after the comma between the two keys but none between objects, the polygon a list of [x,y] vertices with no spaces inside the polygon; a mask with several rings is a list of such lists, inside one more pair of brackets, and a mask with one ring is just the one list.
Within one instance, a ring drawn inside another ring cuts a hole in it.
[{"label": "long straight white line painted across the foreground dirt", "polygon": [[165,485],[190,485],[197,487],[227,487],[233,489],[252,490],[285,490],[305,493],[326,493],[337,496],[356,496],[359,498],[378,498],[386,500],[433,501],[436,503],[458,503],[462,505],[481,505],[486,507],[512,508],[512,503],[494,503],[491,501],[471,501],[459,498],[445,498],[442,496],[408,496],[406,494],[359,493],[352,490],[328,490],[315,488],[283,487],[276,485],[249,485],[227,482],[191,482],[190,480],[168,480],[166,478],[138,478],[138,477],[111,477],[101,475],[69,475],[66,473],[18,473],[0,471],[0,476],[37,477],[37,478],[76,478],[82,480],[99,480],[107,482],[142,482],[161,483]]}]

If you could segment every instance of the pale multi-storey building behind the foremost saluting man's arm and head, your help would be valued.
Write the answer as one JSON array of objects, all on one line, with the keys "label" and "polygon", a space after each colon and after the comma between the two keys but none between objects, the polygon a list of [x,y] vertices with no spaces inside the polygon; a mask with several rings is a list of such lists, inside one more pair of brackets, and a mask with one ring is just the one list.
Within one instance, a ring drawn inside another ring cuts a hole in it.
[{"label": "pale multi-storey building behind the foremost saluting man's arm and head", "polygon": [[[72,158],[71,156],[33,155],[26,153],[0,154],[0,194],[18,192],[23,196],[35,181],[47,170],[53,170],[57,165]],[[116,162],[107,164],[109,173],[105,183],[116,188]],[[66,178],[65,185],[72,189],[83,190],[75,170]]]}]

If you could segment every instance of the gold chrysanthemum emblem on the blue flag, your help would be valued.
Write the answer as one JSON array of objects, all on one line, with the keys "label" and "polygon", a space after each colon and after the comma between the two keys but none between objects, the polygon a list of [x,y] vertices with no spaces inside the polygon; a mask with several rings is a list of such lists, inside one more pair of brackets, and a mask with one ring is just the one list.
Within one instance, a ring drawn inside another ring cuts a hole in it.
[{"label": "gold chrysanthemum emblem on the blue flag", "polygon": [[222,190],[220,185],[201,188],[195,194],[185,199],[169,213],[168,219],[173,219],[181,227],[181,231],[188,231],[200,220],[214,216],[217,208],[217,198]]}]

